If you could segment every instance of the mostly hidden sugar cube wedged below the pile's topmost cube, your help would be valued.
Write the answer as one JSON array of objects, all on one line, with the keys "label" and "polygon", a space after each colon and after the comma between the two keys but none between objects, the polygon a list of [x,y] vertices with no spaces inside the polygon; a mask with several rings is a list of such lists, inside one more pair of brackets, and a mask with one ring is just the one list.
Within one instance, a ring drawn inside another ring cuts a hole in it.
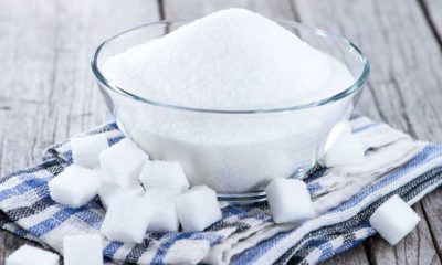
[{"label": "mostly hidden sugar cube wedged below the pile's topmost cube", "polygon": [[116,200],[120,197],[143,197],[144,194],[145,190],[139,183],[128,187],[119,187],[114,183],[104,183],[98,190],[99,200],[105,209],[110,205],[113,200]]}]

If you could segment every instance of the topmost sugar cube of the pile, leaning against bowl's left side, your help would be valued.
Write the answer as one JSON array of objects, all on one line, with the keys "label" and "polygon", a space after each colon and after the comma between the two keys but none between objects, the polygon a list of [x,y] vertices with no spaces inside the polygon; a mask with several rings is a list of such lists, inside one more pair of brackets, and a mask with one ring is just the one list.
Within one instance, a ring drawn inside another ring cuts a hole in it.
[{"label": "topmost sugar cube of the pile, leaning against bowl's left side", "polygon": [[135,184],[148,156],[125,138],[99,155],[103,172],[122,187]]}]

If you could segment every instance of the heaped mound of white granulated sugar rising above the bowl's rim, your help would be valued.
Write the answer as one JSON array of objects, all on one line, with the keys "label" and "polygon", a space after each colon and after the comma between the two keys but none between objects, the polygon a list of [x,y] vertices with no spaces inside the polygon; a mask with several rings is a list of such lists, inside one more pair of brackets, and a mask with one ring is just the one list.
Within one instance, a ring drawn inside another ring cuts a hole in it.
[{"label": "heaped mound of white granulated sugar rising above the bowl's rim", "polygon": [[105,62],[119,87],[210,109],[286,107],[352,83],[346,67],[293,32],[243,9],[215,12]]}]

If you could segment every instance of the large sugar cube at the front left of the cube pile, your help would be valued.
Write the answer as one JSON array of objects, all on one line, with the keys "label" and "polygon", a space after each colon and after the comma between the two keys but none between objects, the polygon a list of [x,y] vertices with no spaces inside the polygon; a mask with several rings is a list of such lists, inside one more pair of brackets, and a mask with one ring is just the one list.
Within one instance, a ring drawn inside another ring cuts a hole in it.
[{"label": "large sugar cube at the front left of the cube pile", "polygon": [[151,209],[145,198],[118,198],[107,209],[101,231],[112,241],[141,243],[150,216]]}]

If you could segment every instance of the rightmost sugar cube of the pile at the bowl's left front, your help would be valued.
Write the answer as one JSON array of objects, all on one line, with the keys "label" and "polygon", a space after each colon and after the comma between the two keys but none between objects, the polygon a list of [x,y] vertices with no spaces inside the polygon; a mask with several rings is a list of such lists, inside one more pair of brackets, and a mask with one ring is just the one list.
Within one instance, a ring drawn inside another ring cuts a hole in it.
[{"label": "rightmost sugar cube of the pile at the bowl's left front", "polygon": [[203,231],[222,218],[217,193],[206,186],[193,187],[179,195],[176,208],[185,232]]}]

